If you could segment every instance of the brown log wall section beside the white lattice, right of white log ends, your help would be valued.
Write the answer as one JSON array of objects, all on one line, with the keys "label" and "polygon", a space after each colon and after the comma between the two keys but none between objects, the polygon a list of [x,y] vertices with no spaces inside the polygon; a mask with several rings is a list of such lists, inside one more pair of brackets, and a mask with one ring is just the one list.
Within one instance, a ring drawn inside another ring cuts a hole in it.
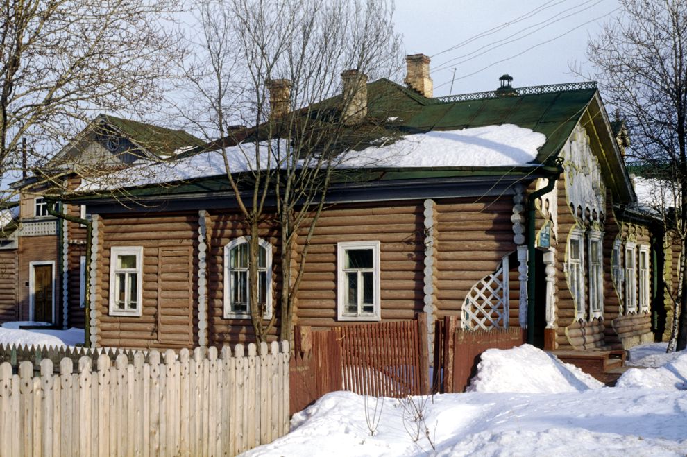
[{"label": "brown log wall section beside the white lattice, right of white log ends", "polygon": [[[470,289],[493,273],[505,255],[516,250],[511,222],[513,197],[480,202],[475,202],[475,198],[439,200],[436,211],[436,318],[458,316],[460,319]],[[511,264],[511,268],[516,268],[517,272],[517,262]],[[518,322],[516,272],[509,275],[509,319],[513,325]]]}]

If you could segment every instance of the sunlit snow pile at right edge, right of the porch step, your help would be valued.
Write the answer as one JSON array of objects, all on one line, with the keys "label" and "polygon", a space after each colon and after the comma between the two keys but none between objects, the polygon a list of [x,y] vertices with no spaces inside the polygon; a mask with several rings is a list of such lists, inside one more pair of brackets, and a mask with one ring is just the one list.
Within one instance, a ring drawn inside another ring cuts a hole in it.
[{"label": "sunlit snow pile at right edge, right of the porch step", "polygon": [[616,387],[687,390],[687,354],[659,368],[631,368],[618,379]]}]

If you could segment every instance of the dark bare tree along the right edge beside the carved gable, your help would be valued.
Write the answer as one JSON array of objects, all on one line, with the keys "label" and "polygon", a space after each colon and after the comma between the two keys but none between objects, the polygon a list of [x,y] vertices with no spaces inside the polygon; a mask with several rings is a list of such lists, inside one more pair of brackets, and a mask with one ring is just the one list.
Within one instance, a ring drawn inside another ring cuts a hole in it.
[{"label": "dark bare tree along the right edge beside the carved gable", "polygon": [[[670,226],[681,245],[680,290],[687,285],[687,3],[620,0],[621,15],[588,46],[607,103],[620,110],[633,146],[628,161],[677,185]],[[668,213],[666,213],[668,216]],[[687,294],[675,302],[677,349],[687,347]]]}]

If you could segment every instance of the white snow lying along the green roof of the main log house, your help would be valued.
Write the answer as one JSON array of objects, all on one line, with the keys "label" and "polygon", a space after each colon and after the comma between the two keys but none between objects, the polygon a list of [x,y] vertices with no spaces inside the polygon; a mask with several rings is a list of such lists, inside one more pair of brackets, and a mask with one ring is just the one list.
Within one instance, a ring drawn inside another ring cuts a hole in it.
[{"label": "white snow lying along the green roof of the main log house", "polygon": [[[429,168],[522,166],[536,159],[537,150],[546,141],[545,135],[529,128],[511,124],[466,128],[463,130],[432,131],[407,135],[396,141],[381,141],[361,151],[347,153],[337,166]],[[267,143],[245,143],[226,148],[230,172],[255,169],[256,155],[262,169],[278,166],[270,157]],[[284,150],[282,144],[280,150]],[[273,151],[278,148],[273,147]],[[208,151],[164,164],[142,164],[99,178],[83,180],[78,191],[98,191],[121,187],[136,187],[210,178],[224,175],[224,159],[219,151]]]}]

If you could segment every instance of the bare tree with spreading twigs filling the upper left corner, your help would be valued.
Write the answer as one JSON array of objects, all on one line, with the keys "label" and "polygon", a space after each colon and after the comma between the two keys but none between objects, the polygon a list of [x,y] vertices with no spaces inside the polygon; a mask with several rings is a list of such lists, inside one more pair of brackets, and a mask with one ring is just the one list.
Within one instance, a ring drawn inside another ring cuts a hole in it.
[{"label": "bare tree with spreading twigs filling the upper left corner", "polygon": [[96,112],[158,112],[183,51],[179,8],[178,0],[2,1],[0,180],[44,164]]}]

